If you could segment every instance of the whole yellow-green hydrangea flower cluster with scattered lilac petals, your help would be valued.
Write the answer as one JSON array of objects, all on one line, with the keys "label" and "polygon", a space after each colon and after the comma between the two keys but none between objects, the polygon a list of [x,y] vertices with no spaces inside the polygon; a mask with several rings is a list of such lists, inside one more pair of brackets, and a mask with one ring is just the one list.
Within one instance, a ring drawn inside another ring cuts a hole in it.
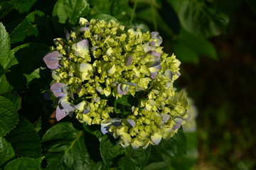
[{"label": "whole yellow-green hydrangea flower cluster with scattered lilac petals", "polygon": [[[54,42],[43,60],[52,69],[57,120],[75,113],[137,149],[169,139],[189,118],[186,98],[173,86],[181,62],[162,51],[159,33],[80,18],[80,26]],[[118,101],[126,102],[123,110]]]}]

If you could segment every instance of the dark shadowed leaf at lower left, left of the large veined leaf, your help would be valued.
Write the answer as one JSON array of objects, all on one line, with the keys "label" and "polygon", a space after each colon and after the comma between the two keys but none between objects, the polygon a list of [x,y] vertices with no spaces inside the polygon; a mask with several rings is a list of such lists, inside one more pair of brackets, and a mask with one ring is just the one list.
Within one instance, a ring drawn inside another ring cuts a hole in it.
[{"label": "dark shadowed leaf at lower left, left of the large veined leaf", "polygon": [[15,157],[41,157],[40,138],[26,118],[21,117],[18,125],[6,135],[14,147]]}]

